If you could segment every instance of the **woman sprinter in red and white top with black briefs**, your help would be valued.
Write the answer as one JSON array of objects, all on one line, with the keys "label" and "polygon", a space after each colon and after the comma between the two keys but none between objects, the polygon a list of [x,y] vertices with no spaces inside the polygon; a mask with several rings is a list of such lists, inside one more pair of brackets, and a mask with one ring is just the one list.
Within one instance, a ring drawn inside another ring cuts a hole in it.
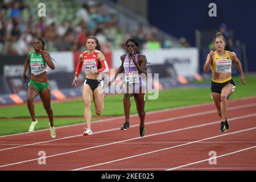
[{"label": "woman sprinter in red and white top with black briefs", "polygon": [[77,78],[84,65],[86,71],[86,78],[84,81],[84,89],[82,90],[82,97],[84,98],[84,119],[87,124],[84,136],[92,135],[90,122],[92,113],[90,111],[90,101],[93,98],[95,111],[97,115],[101,115],[104,107],[103,91],[104,85],[101,80],[100,73],[108,73],[109,67],[106,63],[105,56],[101,52],[98,39],[94,36],[89,36],[86,39],[87,51],[81,53],[79,56],[79,64],[77,64],[76,75],[72,85],[76,86]]}]

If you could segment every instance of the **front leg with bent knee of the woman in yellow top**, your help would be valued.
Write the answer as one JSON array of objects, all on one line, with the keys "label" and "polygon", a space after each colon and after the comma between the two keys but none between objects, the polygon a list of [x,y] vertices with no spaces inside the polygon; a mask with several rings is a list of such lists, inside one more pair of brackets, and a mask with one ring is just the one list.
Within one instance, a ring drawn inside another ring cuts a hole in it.
[{"label": "front leg with bent knee of the woman in yellow top", "polygon": [[224,86],[221,90],[221,121],[225,122],[226,119],[226,114],[227,114],[227,109],[228,109],[228,96],[230,96],[233,91],[234,85],[228,84]]}]

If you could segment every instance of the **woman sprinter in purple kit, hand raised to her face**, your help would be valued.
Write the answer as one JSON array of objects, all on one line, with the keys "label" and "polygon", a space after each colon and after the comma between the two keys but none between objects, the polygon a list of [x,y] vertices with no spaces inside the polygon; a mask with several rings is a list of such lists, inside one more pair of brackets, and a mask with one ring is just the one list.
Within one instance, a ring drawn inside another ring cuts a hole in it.
[{"label": "woman sprinter in purple kit, hand raised to her face", "polygon": [[[134,38],[130,38],[126,41],[127,53],[121,56],[122,64],[115,73],[115,77],[124,71],[125,81],[123,82],[123,107],[125,110],[125,123],[121,127],[121,130],[127,130],[130,127],[130,97],[134,96],[134,100],[139,115],[139,134],[141,137],[146,133],[144,126],[145,120],[145,92],[146,92],[146,56],[138,53],[138,41]],[[109,86],[114,82],[115,77],[109,82]]]}]

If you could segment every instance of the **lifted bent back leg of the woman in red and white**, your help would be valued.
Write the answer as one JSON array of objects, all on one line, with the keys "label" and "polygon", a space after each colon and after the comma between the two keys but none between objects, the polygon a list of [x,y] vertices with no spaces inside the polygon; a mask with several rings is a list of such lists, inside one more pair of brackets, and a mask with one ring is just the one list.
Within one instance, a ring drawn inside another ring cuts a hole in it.
[{"label": "lifted bent back leg of the woman in red and white", "polygon": [[101,115],[104,108],[104,98],[103,98],[103,88],[98,86],[93,91],[93,101],[95,105],[95,113],[97,115]]}]

